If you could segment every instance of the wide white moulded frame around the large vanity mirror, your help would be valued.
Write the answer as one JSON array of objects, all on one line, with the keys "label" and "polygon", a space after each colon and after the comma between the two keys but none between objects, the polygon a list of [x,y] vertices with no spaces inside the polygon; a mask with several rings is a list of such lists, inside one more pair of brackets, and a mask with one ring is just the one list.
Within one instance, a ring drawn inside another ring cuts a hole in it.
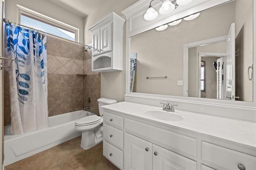
[{"label": "wide white moulded frame around the large vanity mirror", "polygon": [[[253,102],[245,101],[226,101],[218,99],[206,99],[196,97],[183,97],[183,96],[171,96],[171,95],[157,95],[148,93],[134,93],[129,91],[130,87],[130,38],[137,34],[154,29],[158,26],[166,23],[184,18],[190,14],[201,12],[203,10],[230,2],[232,0],[198,0],[201,4],[197,6],[188,6],[182,12],[167,15],[165,18],[156,19],[154,21],[145,22],[143,15],[148,9],[148,2],[150,0],[140,0],[132,6],[122,11],[122,14],[126,16],[126,94],[125,101],[150,104],[154,106],[160,106],[158,101],[169,101],[172,103],[179,103],[180,109],[187,111],[196,111],[198,113],[205,113],[216,116],[231,117],[234,119],[242,119],[246,121],[256,122],[256,81],[253,79]],[[256,3],[253,4],[253,35],[256,35]],[[133,29],[132,25],[139,24],[137,29]],[[225,39],[226,40],[226,39]],[[256,65],[256,38],[253,39],[253,65]],[[256,75],[256,71],[253,71]],[[183,107],[181,107],[183,106]],[[186,108],[185,108],[186,107]],[[189,107],[189,108],[188,108]],[[221,112],[221,113],[218,113]],[[226,114],[226,112],[228,112]],[[243,113],[243,114],[241,114]]]}]

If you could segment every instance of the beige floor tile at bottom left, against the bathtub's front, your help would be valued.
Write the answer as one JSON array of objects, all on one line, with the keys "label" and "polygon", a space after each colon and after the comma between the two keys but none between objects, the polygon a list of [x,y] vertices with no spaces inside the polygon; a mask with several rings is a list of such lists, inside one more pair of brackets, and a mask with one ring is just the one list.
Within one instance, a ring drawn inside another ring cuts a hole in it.
[{"label": "beige floor tile at bottom left, against the bathtub's front", "polygon": [[49,150],[5,166],[5,170],[61,170]]}]

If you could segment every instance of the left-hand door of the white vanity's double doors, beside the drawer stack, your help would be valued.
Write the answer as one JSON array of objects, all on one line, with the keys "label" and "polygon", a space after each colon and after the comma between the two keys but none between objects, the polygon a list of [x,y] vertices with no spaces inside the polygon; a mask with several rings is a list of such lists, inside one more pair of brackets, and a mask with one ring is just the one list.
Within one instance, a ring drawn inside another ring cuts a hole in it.
[{"label": "left-hand door of the white vanity's double doors, beside the drawer stack", "polygon": [[124,169],[152,170],[152,143],[125,133]]}]

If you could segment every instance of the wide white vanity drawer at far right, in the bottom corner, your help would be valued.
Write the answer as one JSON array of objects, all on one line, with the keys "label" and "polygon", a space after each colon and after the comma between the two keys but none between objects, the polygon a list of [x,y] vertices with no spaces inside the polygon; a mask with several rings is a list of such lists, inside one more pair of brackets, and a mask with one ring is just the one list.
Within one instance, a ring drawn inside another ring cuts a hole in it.
[{"label": "wide white vanity drawer at far right, in the bottom corner", "polygon": [[238,164],[243,164],[246,169],[253,170],[256,167],[256,157],[208,142],[202,142],[202,160],[210,162],[217,169],[238,169]]}]

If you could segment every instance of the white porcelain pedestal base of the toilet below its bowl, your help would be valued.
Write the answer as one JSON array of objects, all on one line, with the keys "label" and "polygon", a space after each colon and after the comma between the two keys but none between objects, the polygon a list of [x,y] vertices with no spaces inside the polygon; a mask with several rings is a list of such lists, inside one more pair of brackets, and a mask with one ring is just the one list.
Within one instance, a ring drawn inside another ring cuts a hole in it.
[{"label": "white porcelain pedestal base of the toilet below its bowl", "polygon": [[103,140],[103,126],[101,125],[96,130],[82,132],[81,148],[84,150],[90,149],[99,144]]}]

